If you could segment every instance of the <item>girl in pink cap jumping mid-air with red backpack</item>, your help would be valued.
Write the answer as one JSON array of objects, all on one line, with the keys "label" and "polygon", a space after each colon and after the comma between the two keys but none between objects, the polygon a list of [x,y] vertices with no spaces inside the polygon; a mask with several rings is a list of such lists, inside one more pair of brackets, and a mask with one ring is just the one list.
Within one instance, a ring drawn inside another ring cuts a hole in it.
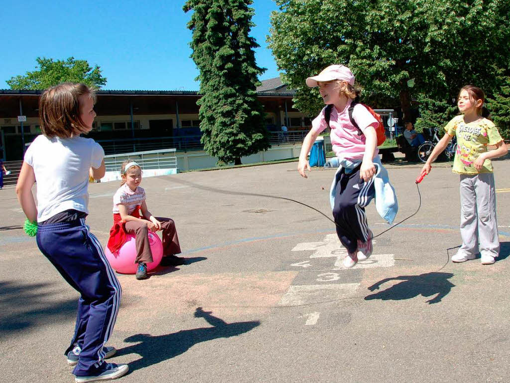
[{"label": "girl in pink cap jumping mid-air with red backpack", "polygon": [[[354,89],[354,76],[348,67],[330,65],[318,76],[309,77],[307,85],[319,86],[324,104],[329,107],[323,108],[313,120],[312,129],[303,140],[297,169],[307,178],[305,170],[311,170],[308,153],[329,125],[331,144],[339,163],[331,185],[331,208],[338,237],[347,249],[343,264],[351,268],[372,254],[373,234],[365,214],[372,198],[375,197],[381,217],[389,223],[398,209],[395,191],[378,156],[375,128],[379,122],[367,107],[357,103],[360,91]],[[330,113],[329,123],[326,113]]]}]

